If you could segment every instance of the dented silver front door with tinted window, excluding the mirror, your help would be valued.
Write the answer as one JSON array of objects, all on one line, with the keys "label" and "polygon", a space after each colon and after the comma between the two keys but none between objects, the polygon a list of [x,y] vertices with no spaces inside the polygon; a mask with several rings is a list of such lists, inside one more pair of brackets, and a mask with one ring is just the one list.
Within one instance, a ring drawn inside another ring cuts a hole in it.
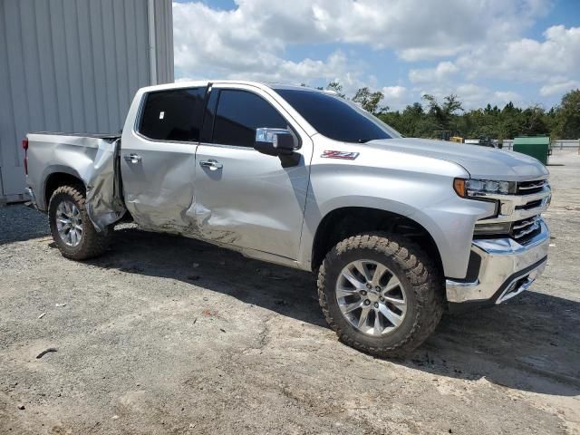
[{"label": "dented silver front door with tinted window, excluding the mirror", "polygon": [[[292,163],[254,150],[256,129],[290,128],[301,142]],[[196,213],[202,237],[295,259],[312,141],[283,106],[253,86],[211,89],[196,154]]]}]

